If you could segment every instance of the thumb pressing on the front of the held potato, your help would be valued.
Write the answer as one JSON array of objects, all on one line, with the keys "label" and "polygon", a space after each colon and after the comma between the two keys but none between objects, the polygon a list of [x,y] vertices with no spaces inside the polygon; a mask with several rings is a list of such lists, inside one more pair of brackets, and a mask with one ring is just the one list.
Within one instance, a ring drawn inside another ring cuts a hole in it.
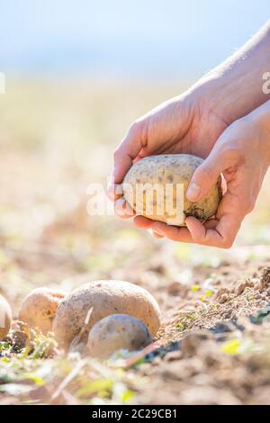
[{"label": "thumb pressing on the front of the held potato", "polygon": [[197,167],[187,188],[186,197],[191,202],[198,202],[209,193],[216,184],[220,173],[228,166],[220,148],[214,148],[211,154]]}]

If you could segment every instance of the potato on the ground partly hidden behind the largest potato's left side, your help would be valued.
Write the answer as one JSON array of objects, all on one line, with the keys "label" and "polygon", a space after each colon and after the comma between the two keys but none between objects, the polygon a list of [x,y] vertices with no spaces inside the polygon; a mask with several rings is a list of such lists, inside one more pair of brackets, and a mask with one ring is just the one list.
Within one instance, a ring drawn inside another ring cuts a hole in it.
[{"label": "potato on the ground partly hidden behind the largest potato's left side", "polygon": [[58,305],[65,297],[60,290],[37,288],[31,291],[23,300],[19,319],[32,328],[39,328],[44,334],[51,331],[52,320],[58,310]]}]

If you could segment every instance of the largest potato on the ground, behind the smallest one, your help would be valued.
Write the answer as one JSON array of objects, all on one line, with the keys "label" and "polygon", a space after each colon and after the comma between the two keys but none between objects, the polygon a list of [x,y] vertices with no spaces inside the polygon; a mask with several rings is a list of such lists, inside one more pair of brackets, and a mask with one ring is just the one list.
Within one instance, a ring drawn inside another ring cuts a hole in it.
[{"label": "largest potato on the ground, behind the smallest one", "polygon": [[[89,312],[89,321],[85,322]],[[86,343],[94,324],[116,313],[129,314],[142,320],[150,334],[153,337],[156,335],[160,312],[152,295],[138,285],[110,280],[84,284],[67,295],[58,307],[52,330],[58,342],[68,347],[84,328],[81,340]]]}]

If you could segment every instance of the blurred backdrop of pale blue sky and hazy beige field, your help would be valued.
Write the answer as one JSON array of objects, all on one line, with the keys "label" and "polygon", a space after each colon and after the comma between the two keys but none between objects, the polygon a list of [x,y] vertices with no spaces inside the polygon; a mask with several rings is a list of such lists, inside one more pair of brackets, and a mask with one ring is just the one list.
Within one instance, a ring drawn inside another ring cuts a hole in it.
[{"label": "blurred backdrop of pale blue sky and hazy beige field", "polygon": [[[238,49],[268,8],[266,0],[1,2],[1,291],[16,302],[33,286],[69,290],[89,277],[155,291],[160,266],[165,284],[191,279],[191,265],[219,266],[228,252],[87,216],[86,188],[105,184],[134,119]],[[269,177],[237,245],[270,242],[268,190]]]}]

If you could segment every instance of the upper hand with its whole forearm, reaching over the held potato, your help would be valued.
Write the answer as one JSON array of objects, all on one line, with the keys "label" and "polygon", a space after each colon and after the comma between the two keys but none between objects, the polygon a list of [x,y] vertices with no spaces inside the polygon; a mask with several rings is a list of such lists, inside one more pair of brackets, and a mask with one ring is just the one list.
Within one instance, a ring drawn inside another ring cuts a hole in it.
[{"label": "upper hand with its whole forearm, reaching over the held potato", "polygon": [[[270,98],[262,89],[269,46],[270,23],[266,23],[242,49],[203,76],[189,91],[133,123],[114,154],[115,183],[121,184],[139,157],[181,152],[207,157],[231,122]],[[113,186],[109,193],[112,199],[119,196],[114,195]]]}]

